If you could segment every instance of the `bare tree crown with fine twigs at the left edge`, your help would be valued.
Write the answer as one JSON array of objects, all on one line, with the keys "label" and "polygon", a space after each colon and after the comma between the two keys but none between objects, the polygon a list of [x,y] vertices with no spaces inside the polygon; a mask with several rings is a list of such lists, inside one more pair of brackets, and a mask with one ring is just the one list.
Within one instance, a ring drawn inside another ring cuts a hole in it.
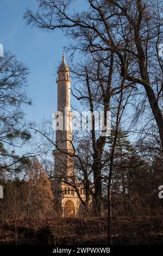
[{"label": "bare tree crown with fine twigs at the left edge", "polygon": [[[31,105],[27,96],[28,68],[10,52],[0,57],[0,170],[20,170],[28,164],[27,155],[18,156],[16,148],[28,142],[31,135],[24,120],[23,105]],[[8,149],[7,149],[8,148]]]}]

